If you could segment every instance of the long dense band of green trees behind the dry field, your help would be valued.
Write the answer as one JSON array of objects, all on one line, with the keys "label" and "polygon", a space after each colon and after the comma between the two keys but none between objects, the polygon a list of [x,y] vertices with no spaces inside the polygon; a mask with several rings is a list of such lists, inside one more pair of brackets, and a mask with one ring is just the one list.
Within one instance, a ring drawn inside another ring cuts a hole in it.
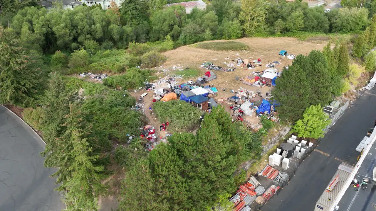
[{"label": "long dense band of green trees behind the dry field", "polygon": [[323,7],[308,7],[300,1],[243,0],[239,4],[213,0],[206,10],[195,8],[186,14],[182,6],[162,8],[166,3],[125,0],[120,8],[112,4],[107,10],[77,6],[49,12],[29,3],[18,11],[3,12],[2,24],[10,27],[27,49],[53,53],[77,50],[89,41],[98,42],[103,49],[126,48],[131,42],[162,41],[167,35],[177,47],[287,32],[352,33],[365,30],[373,15],[372,7],[367,6],[372,4],[324,13]]}]

